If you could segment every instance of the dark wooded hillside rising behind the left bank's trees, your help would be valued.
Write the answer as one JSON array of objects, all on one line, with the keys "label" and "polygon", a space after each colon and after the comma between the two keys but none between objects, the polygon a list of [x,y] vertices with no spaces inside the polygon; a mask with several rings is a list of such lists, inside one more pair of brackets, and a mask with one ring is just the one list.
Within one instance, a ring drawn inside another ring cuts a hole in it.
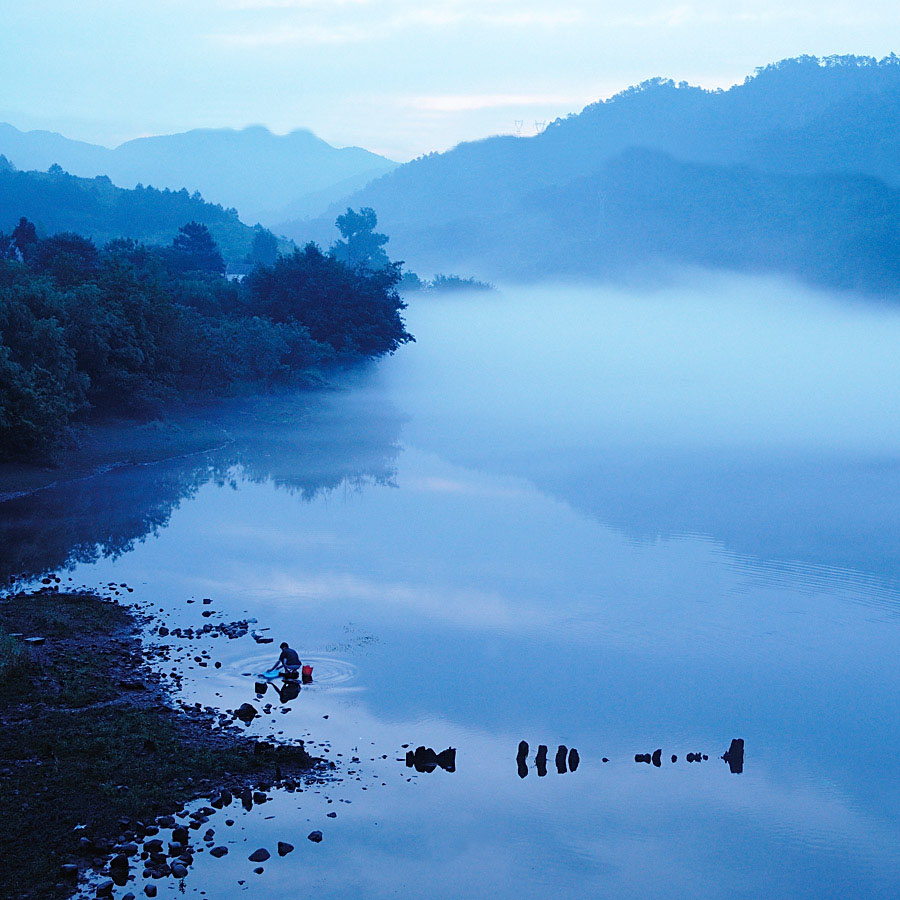
[{"label": "dark wooded hillside rising behind the left bank's trees", "polygon": [[226,262],[242,262],[255,229],[233,209],[206,203],[186,190],[118,188],[105,175],[78,178],[56,167],[21,172],[0,156],[0,231],[12,231],[25,216],[41,235],[74,231],[102,246],[117,237],[169,244],[187,222],[206,225]]}]

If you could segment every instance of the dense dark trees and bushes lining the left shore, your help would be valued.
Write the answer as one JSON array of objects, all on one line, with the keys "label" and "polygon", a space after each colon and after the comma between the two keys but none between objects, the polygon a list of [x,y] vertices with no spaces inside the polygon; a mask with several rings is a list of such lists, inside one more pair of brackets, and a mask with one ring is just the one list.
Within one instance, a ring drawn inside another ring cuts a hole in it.
[{"label": "dense dark trees and bushes lining the left shore", "polygon": [[168,246],[97,247],[41,238],[21,219],[0,233],[0,458],[52,453],[92,416],[155,415],[179,398],[393,353],[412,340],[400,264],[372,268],[356,249],[350,262],[315,244],[259,247],[271,262],[235,280],[197,222]]}]

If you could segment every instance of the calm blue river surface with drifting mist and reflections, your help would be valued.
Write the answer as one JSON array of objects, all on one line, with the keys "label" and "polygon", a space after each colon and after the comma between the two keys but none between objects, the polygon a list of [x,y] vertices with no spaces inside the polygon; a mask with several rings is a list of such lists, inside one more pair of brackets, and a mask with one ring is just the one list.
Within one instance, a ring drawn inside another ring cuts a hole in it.
[{"label": "calm blue river surface with drifting mist and reflections", "polygon": [[[274,643],[176,646],[178,696],[272,703],[252,732],[339,763],[218,813],[186,895],[900,894],[900,310],[697,275],[406,317],[416,344],[225,447],[0,505],[6,575],[254,617]],[[281,640],[314,682],[258,701]]]}]

